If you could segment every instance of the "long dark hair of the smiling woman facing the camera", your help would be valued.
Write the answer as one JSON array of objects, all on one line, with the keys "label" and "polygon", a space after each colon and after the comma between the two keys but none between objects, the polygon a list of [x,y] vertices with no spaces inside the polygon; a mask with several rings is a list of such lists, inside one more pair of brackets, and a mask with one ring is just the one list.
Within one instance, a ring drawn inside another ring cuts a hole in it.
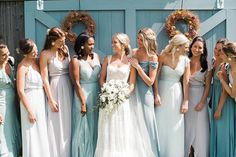
[{"label": "long dark hair of the smiling woman facing the camera", "polygon": [[207,47],[206,47],[206,41],[205,39],[203,39],[201,36],[197,36],[193,39],[192,43],[190,44],[189,46],[189,54],[188,54],[188,57],[189,58],[192,58],[193,56],[193,53],[192,53],[192,47],[193,47],[193,44],[197,41],[200,41],[203,43],[203,53],[201,54],[200,56],[200,64],[201,64],[201,67],[202,67],[202,70],[201,72],[205,72],[207,69],[208,69],[208,63],[207,63]]}]

